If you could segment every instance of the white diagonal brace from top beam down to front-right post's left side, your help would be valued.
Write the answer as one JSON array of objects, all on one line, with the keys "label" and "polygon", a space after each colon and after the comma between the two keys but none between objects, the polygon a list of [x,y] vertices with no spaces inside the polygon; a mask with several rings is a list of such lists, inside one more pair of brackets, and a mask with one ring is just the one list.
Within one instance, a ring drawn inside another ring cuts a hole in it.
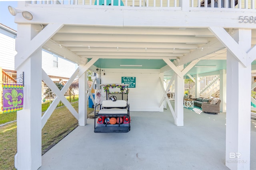
[{"label": "white diagonal brace from top beam down to front-right post's left side", "polygon": [[222,44],[240,61],[247,66],[247,54],[238,43],[222,27],[209,27],[210,31],[222,42]]}]

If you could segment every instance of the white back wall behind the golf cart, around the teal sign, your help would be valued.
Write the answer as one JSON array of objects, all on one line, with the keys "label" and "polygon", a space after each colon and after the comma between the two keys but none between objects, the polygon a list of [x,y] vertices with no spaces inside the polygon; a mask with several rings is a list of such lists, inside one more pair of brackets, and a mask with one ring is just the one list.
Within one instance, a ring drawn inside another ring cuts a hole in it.
[{"label": "white back wall behind the golf cart, around the teal sign", "polygon": [[[130,88],[128,103],[130,111],[163,111],[158,107],[163,96],[159,83],[157,69],[104,69],[105,75],[101,75],[101,83],[121,83],[122,77],[136,77],[136,88]],[[137,73],[136,73],[137,72]],[[106,100],[106,94],[102,89],[102,100]]]}]

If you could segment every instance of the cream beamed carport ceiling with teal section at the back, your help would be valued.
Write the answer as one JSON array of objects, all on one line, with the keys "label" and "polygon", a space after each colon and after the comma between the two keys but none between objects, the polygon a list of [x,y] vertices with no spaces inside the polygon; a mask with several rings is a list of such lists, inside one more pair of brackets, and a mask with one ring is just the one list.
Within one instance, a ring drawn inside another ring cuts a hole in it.
[{"label": "cream beamed carport ceiling with teal section at the back", "polygon": [[[255,45],[255,30],[252,35]],[[99,57],[99,68],[162,68],[162,58],[225,60],[224,46],[211,46],[217,41],[207,28],[64,25],[44,48],[78,64]]]}]

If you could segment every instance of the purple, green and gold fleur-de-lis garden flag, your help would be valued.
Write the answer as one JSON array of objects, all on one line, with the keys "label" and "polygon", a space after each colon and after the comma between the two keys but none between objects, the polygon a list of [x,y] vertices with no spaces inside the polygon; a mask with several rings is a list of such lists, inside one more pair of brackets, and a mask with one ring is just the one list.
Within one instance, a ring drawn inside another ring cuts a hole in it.
[{"label": "purple, green and gold fleur-de-lis garden flag", "polygon": [[3,113],[10,113],[23,109],[23,85],[2,84]]}]

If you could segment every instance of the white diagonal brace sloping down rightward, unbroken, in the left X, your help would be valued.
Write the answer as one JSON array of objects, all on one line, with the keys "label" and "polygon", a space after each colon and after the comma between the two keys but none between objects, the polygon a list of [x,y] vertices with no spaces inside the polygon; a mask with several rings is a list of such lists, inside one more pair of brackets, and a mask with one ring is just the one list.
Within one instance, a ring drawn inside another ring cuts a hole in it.
[{"label": "white diagonal brace sloping down rightward, unbroken, in the left X", "polygon": [[42,80],[47,84],[47,86],[56,94],[56,96],[62,101],[62,103],[68,108],[68,110],[78,119],[78,113],[74,109],[74,107],[68,102],[65,98],[64,94],[58,89],[58,87],[52,82],[50,77],[42,70]]}]

